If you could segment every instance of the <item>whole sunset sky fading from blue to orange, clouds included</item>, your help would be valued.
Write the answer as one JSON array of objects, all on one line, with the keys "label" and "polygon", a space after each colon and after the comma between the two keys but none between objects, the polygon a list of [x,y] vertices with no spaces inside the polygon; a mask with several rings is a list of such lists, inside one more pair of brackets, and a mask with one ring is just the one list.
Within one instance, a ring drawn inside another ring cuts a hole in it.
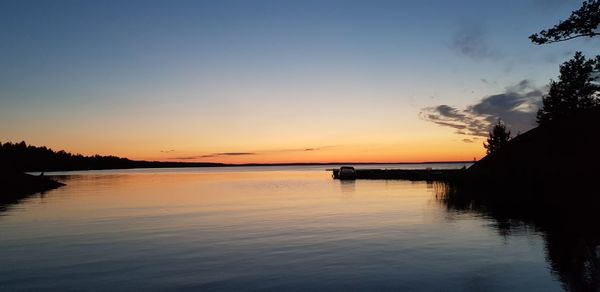
[{"label": "whole sunset sky fading from blue to orange, clouds included", "polygon": [[575,0],[0,1],[0,141],[225,163],[485,154],[558,66]]}]

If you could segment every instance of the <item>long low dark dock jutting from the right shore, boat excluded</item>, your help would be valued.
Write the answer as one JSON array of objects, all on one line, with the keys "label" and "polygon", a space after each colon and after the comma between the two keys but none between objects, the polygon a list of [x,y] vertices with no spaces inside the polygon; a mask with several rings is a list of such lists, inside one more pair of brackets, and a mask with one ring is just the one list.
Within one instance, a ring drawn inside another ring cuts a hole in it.
[{"label": "long low dark dock jutting from the right shore, boat excluded", "polygon": [[[327,169],[334,179],[339,169]],[[411,181],[451,181],[458,179],[464,169],[355,169],[355,179],[402,179]]]}]

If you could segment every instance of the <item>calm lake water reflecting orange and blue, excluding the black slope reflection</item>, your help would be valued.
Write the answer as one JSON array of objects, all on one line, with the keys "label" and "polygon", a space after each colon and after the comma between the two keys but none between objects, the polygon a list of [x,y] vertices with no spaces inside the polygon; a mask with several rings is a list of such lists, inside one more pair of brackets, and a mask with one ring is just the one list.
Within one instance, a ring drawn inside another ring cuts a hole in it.
[{"label": "calm lake water reflecting orange and blue, excluding the black slope reflection", "polygon": [[0,213],[0,290],[562,290],[534,228],[325,168],[63,173]]}]

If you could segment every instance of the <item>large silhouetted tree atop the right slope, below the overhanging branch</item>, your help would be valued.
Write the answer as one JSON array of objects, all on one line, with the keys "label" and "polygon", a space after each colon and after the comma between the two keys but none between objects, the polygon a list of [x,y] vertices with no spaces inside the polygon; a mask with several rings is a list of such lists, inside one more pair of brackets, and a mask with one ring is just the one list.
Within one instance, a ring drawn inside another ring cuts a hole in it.
[{"label": "large silhouetted tree atop the right slope, below the overhanging branch", "polygon": [[550,90],[542,100],[538,123],[546,124],[600,106],[600,86],[594,82],[597,79],[594,71],[598,66],[599,62],[586,59],[581,52],[560,65],[559,80],[550,82]]}]

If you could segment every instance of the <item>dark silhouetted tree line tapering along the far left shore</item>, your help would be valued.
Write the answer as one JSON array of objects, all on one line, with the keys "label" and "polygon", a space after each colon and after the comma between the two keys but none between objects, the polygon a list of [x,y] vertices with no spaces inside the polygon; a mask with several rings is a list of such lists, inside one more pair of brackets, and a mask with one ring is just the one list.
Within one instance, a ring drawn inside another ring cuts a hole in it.
[{"label": "dark silhouetted tree line tapering along the far left shore", "polygon": [[21,172],[221,165],[220,163],[134,161],[127,158],[101,155],[83,156],[81,154],[71,154],[64,150],[53,151],[45,146],[27,145],[24,141],[20,143],[0,143],[0,168]]}]

